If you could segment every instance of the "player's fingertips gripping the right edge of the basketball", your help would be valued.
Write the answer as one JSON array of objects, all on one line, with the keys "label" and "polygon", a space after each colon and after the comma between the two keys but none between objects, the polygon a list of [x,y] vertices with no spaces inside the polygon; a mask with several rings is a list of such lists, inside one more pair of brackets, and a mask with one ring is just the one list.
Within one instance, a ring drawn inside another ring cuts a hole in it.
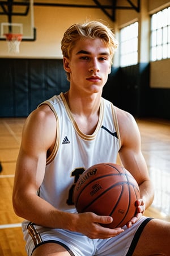
[{"label": "player's fingertips gripping the right edge of the basketball", "polygon": [[135,206],[137,207],[135,216],[126,224],[127,228],[130,228],[131,225],[137,222],[142,217],[143,212],[145,212],[145,202],[143,199],[138,199],[135,201]]}]

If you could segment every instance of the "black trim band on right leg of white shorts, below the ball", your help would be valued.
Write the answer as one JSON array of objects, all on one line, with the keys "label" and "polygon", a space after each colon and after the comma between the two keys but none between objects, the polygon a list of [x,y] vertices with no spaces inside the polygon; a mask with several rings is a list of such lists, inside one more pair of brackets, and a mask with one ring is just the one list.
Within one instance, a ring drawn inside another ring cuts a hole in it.
[{"label": "black trim band on right leg of white shorts, below the ball", "polygon": [[134,235],[133,240],[131,241],[131,245],[129,247],[128,253],[126,254],[126,256],[131,256],[135,250],[135,247],[137,246],[137,243],[139,241],[139,238],[142,234],[143,229],[145,228],[146,224],[152,220],[153,218],[146,218],[145,221],[142,222],[142,224],[139,226],[139,228],[137,229],[137,232]]}]

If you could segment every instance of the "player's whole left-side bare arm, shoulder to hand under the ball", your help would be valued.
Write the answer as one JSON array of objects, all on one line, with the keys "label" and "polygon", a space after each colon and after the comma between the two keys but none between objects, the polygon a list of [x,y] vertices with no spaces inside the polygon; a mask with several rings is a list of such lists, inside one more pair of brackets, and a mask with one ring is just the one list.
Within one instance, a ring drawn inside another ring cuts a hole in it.
[{"label": "player's whole left-side bare arm, shoulder to hand under the ball", "polygon": [[99,225],[112,222],[110,216],[62,212],[37,196],[44,179],[46,155],[56,139],[56,126],[56,118],[46,105],[31,113],[25,122],[12,197],[15,213],[37,225],[68,229],[90,238],[108,238],[123,232]]}]

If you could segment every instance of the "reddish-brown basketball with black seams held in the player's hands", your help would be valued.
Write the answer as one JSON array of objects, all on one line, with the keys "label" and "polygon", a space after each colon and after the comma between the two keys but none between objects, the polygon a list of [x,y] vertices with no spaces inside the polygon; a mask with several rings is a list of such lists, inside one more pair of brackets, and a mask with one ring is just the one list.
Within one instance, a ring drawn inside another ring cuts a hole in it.
[{"label": "reddish-brown basketball with black seams held in the player's hands", "polygon": [[128,170],[118,164],[99,163],[80,175],[73,200],[78,213],[94,212],[112,216],[107,228],[126,225],[135,215],[135,201],[140,198],[139,186]]}]

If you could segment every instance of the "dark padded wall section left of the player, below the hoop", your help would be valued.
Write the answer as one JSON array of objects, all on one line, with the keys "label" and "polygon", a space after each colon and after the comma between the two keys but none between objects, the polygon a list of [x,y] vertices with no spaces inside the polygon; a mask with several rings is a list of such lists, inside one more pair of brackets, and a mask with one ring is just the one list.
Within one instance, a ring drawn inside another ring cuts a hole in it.
[{"label": "dark padded wall section left of the player, below the hoop", "polygon": [[62,60],[0,59],[0,117],[27,117],[67,89]]}]

